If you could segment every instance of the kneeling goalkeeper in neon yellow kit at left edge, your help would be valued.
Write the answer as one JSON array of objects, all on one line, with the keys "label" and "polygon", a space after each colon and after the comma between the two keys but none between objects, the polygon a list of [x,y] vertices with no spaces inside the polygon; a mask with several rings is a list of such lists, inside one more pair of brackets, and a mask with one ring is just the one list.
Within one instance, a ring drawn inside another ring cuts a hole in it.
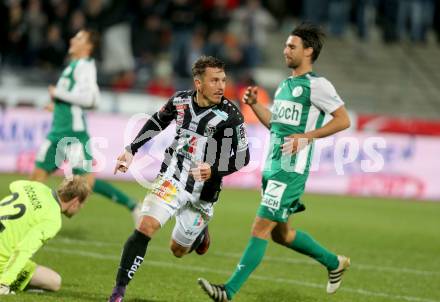
[{"label": "kneeling goalkeeper in neon yellow kit at left edge", "polygon": [[64,180],[57,191],[36,181],[9,185],[11,195],[0,200],[0,295],[27,287],[57,291],[61,277],[30,258],[61,228],[61,213],[75,215],[90,187],[85,178]]}]

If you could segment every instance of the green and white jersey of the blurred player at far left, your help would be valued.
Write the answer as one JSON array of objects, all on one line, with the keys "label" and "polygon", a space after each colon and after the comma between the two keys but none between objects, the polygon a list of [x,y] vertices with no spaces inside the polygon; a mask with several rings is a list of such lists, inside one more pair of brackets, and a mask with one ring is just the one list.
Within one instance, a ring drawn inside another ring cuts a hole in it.
[{"label": "green and white jersey of the blurred player at far left", "polygon": [[56,85],[51,133],[87,132],[84,109],[96,107],[98,101],[95,61],[72,60]]}]

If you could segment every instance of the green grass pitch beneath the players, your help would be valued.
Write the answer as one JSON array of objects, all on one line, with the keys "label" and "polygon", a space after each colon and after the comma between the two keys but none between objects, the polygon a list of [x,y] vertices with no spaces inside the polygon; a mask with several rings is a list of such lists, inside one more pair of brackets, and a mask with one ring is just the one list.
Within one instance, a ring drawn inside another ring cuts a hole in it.
[{"label": "green grass pitch beneath the players", "polygon": [[[17,177],[0,175],[1,196]],[[50,182],[57,183],[58,179]],[[115,184],[136,198],[145,194],[136,183]],[[125,301],[209,301],[196,280],[227,280],[247,244],[258,201],[258,191],[224,190],[210,224],[212,244],[203,257],[172,256],[171,221],[150,242]],[[271,243],[234,301],[440,301],[440,203],[322,195],[306,195],[304,201],[307,210],[294,216],[292,225],[352,259],[340,291],[327,296],[321,266]],[[132,230],[127,210],[94,195],[78,216],[64,220],[58,236],[34,257],[62,275],[62,289],[0,300],[105,301]]]}]

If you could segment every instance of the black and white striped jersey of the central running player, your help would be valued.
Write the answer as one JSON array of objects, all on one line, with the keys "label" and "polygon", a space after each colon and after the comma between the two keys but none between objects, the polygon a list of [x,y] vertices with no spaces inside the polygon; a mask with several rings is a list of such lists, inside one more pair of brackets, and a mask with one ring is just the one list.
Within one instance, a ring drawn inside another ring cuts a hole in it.
[{"label": "black and white striped jersey of the central running player", "polygon": [[[135,154],[173,120],[176,135],[165,151],[160,173],[173,177],[195,199],[215,202],[223,176],[249,163],[249,148],[243,116],[226,98],[218,105],[199,107],[194,90],[180,91],[149,119],[127,150]],[[197,163],[211,165],[211,178],[196,181],[190,169]]]}]

